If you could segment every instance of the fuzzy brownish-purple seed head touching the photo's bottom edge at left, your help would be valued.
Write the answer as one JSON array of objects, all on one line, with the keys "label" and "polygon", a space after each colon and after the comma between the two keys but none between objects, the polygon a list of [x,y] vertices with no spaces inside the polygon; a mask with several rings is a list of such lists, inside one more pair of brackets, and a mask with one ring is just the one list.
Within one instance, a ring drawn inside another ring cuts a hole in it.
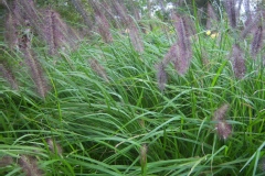
[{"label": "fuzzy brownish-purple seed head touching the photo's bottom edge at left", "polygon": [[41,176],[42,172],[38,168],[36,160],[30,156],[22,155],[19,158],[19,165],[22,167],[26,176]]}]

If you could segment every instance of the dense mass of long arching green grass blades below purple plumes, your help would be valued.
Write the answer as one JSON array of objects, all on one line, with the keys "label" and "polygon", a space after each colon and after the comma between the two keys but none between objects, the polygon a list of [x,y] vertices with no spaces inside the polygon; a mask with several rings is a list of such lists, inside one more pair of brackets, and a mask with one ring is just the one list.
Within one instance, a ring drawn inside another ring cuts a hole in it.
[{"label": "dense mass of long arching green grass blades below purple plumes", "polygon": [[42,97],[23,56],[2,50],[19,89],[0,77],[0,174],[263,175],[262,53],[254,61],[241,45],[246,72],[237,78],[227,20],[214,38],[197,26],[189,69],[178,75],[169,63],[161,86],[156,65],[178,38],[165,25],[173,31],[158,21],[142,34],[140,54],[117,30],[112,43],[95,37],[54,56],[33,46],[50,85]]}]

